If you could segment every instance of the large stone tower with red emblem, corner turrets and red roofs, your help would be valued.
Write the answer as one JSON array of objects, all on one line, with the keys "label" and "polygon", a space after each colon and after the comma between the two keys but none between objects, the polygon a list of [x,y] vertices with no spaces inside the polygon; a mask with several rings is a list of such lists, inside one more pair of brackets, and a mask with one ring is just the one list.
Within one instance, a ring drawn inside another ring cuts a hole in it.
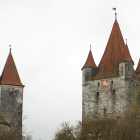
[{"label": "large stone tower with red emblem, corner turrets and red roofs", "polygon": [[135,72],[134,62],[121,34],[117,20],[101,61],[96,66],[92,52],[82,68],[82,119],[87,115],[124,116],[134,104],[134,92],[139,84],[140,62]]}]

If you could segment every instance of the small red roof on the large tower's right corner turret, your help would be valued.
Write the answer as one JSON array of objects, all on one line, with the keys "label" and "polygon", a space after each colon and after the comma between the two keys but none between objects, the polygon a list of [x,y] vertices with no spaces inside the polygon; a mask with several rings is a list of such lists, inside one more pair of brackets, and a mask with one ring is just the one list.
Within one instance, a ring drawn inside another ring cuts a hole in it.
[{"label": "small red roof on the large tower's right corner turret", "polygon": [[124,47],[124,52],[122,54],[120,62],[133,62],[127,45],[125,45]]}]

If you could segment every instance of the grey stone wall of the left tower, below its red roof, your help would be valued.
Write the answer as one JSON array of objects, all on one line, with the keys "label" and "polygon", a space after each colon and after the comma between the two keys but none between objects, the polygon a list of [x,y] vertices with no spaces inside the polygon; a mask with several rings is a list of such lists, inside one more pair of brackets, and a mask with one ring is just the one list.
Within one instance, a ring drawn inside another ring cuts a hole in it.
[{"label": "grey stone wall of the left tower, below its red roof", "polygon": [[22,135],[22,105],[23,87],[13,85],[0,85],[1,115],[10,124],[10,132],[15,130]]}]

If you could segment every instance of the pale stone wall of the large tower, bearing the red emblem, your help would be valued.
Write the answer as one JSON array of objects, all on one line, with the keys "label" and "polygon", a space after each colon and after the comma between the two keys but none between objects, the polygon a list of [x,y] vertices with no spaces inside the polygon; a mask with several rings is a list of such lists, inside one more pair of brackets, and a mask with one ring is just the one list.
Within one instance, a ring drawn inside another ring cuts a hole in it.
[{"label": "pale stone wall of the large tower, bearing the red emblem", "polygon": [[[134,91],[137,80],[128,76],[107,78],[106,87],[102,86],[105,79],[85,81],[82,83],[82,118],[88,115],[124,116],[124,111],[134,105]],[[113,81],[113,82],[112,82]]]}]

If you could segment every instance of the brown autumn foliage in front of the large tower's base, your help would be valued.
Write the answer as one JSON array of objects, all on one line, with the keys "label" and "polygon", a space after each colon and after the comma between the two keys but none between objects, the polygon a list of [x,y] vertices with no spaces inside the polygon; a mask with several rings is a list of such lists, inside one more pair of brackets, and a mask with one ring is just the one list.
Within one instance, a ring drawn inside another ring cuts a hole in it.
[{"label": "brown autumn foliage in front of the large tower's base", "polygon": [[140,139],[140,87],[136,88],[135,105],[125,117],[86,118],[75,125],[64,122],[53,140],[138,140]]}]

